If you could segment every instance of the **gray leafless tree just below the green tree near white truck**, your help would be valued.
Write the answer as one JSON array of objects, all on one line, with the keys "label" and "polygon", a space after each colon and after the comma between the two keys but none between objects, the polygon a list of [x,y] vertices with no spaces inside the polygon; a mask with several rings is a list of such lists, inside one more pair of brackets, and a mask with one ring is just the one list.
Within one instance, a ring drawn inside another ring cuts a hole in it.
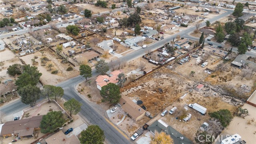
[{"label": "gray leafless tree just below the green tree near white truck", "polygon": [[220,132],[222,132],[223,126],[221,123],[215,119],[212,118],[209,120],[209,128],[206,130],[211,135],[217,136]]}]

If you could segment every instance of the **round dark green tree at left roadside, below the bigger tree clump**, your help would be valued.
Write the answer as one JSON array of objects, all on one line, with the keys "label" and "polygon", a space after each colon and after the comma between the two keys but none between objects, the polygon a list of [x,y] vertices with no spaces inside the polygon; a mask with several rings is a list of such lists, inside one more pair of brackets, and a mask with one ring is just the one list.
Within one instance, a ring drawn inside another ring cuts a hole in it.
[{"label": "round dark green tree at left roadside, below the bigger tree clump", "polygon": [[40,88],[30,84],[18,90],[18,94],[21,96],[21,102],[30,104],[31,107],[35,106],[36,100],[39,100],[40,92]]}]

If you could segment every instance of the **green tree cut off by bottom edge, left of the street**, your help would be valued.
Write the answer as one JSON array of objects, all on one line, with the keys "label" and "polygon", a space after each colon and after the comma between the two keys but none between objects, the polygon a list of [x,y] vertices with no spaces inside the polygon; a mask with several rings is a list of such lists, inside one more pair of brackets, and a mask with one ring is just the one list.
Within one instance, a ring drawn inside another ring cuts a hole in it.
[{"label": "green tree cut off by bottom edge, left of the street", "polygon": [[81,132],[81,144],[104,144],[104,131],[97,125],[90,125]]}]

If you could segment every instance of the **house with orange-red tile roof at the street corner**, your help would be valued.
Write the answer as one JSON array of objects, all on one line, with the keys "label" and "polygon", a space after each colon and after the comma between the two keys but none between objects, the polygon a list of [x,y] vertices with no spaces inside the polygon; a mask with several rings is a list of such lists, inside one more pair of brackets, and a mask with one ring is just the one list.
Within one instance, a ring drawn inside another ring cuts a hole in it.
[{"label": "house with orange-red tile roof at the street corner", "polygon": [[120,70],[115,70],[110,72],[109,76],[100,75],[96,78],[96,85],[99,90],[101,90],[102,86],[106,86],[108,83],[116,84],[118,82],[118,74],[121,74]]}]

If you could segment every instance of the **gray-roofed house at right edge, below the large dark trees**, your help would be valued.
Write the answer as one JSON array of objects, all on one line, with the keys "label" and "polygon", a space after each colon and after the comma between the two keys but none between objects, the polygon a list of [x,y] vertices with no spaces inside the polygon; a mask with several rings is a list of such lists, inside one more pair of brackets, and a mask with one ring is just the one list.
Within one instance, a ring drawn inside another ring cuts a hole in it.
[{"label": "gray-roofed house at right edge, below the large dark trees", "polygon": [[235,66],[242,66],[244,67],[246,64],[248,64],[248,66],[250,68],[256,68],[256,63],[247,60],[250,56],[246,56],[246,54],[239,54],[238,56],[236,56],[236,58],[234,59],[233,62],[231,62],[231,64],[235,65]]}]

